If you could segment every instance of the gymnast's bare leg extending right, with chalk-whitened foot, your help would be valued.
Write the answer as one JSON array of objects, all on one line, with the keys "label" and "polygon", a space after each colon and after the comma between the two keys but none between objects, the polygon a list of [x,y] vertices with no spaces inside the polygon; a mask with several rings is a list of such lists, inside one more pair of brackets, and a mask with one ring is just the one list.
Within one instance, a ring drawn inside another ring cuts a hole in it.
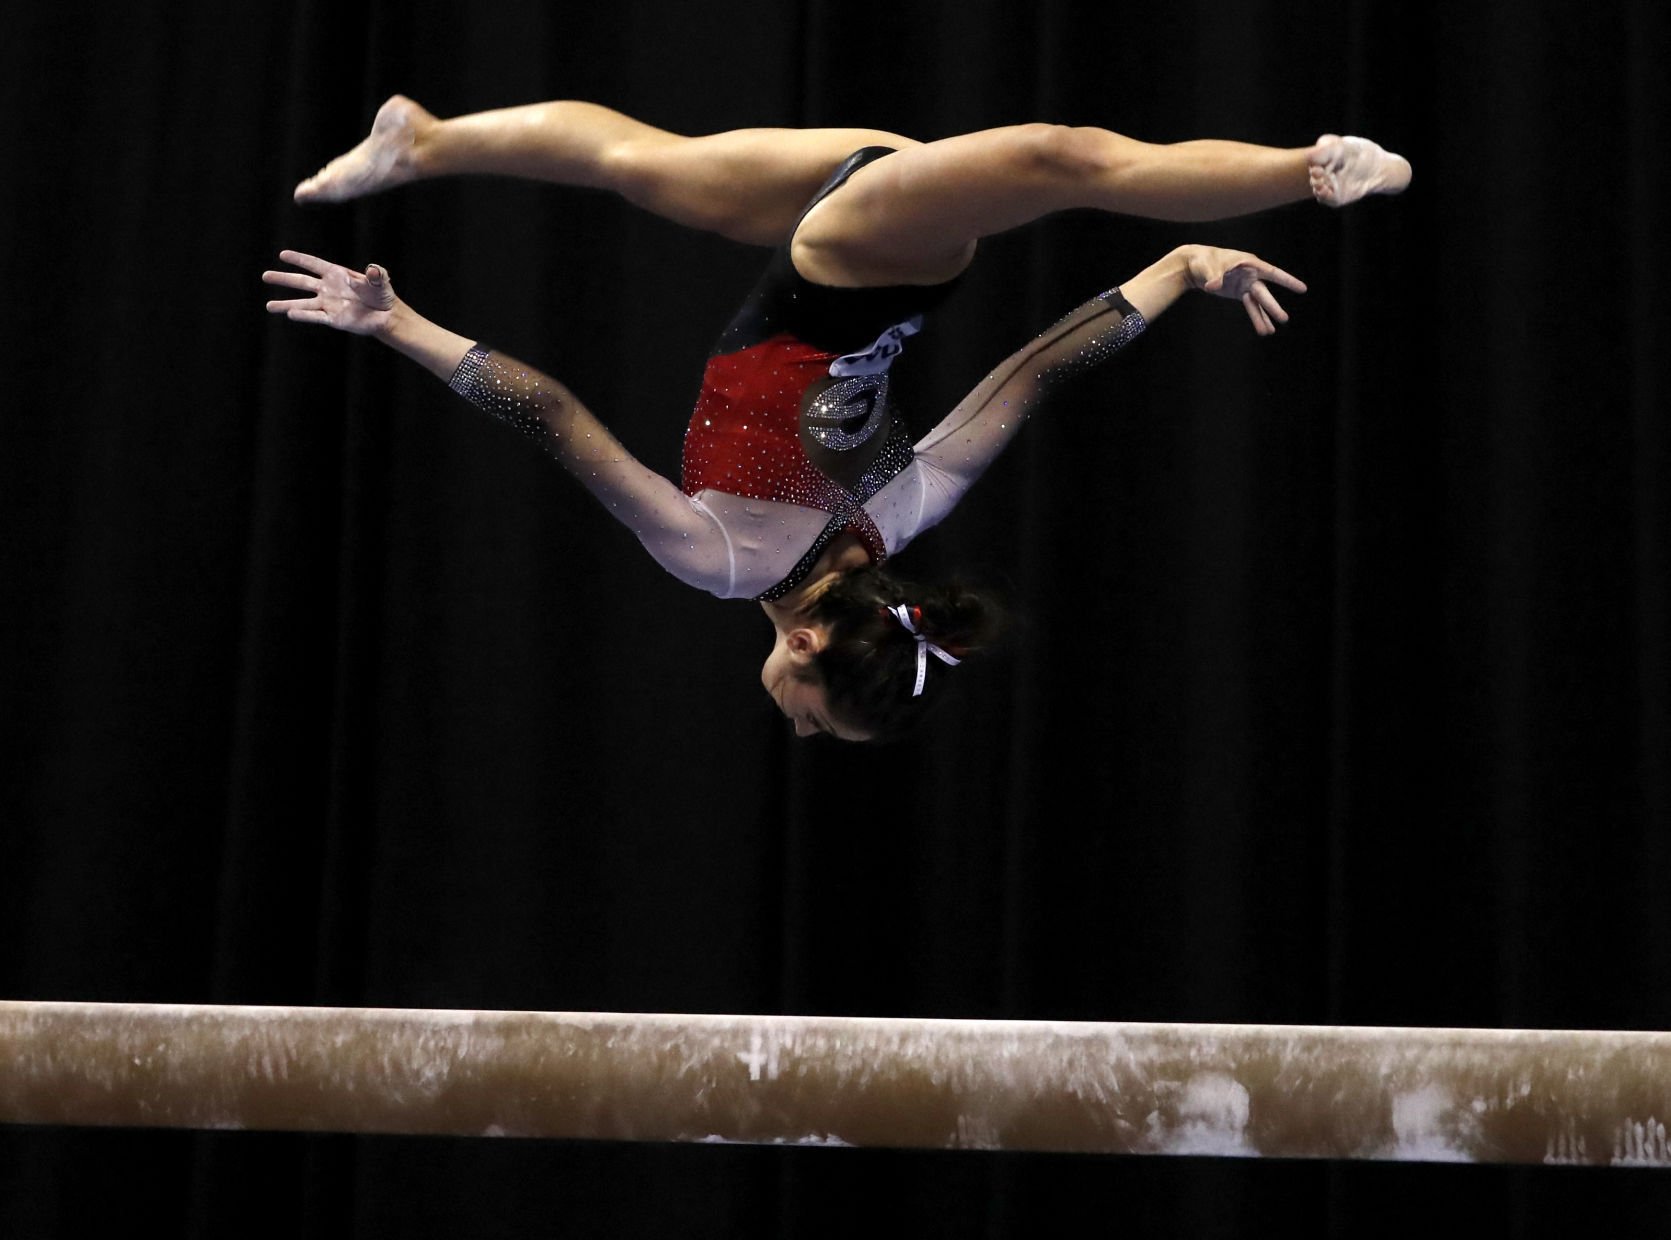
[{"label": "gymnast's bare leg extending right, with chalk-whitened foot", "polygon": [[859,169],[807,214],[795,266],[824,284],[929,284],[961,271],[981,237],[1069,207],[1198,222],[1312,197],[1345,206],[1409,180],[1407,160],[1365,139],[1155,145],[1106,129],[1009,125]]}]

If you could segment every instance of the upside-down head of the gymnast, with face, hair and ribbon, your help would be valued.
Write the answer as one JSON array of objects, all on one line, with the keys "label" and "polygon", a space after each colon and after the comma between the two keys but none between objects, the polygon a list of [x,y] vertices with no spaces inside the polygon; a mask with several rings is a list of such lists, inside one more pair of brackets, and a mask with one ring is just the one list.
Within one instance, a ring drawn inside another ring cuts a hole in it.
[{"label": "upside-down head of the gymnast, with face, hair and ribbon", "polygon": [[760,684],[795,735],[896,740],[946,700],[957,665],[993,645],[998,603],[961,583],[916,587],[876,565],[829,578],[794,610]]}]

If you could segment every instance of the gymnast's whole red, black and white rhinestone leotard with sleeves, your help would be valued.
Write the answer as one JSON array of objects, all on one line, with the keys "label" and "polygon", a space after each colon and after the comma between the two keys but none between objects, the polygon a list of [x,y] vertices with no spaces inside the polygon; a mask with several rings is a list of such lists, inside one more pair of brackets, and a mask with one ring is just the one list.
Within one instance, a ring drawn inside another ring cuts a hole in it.
[{"label": "gymnast's whole red, black and white rhinestone leotard with sleeves", "polygon": [[[814,202],[886,154],[857,152]],[[1118,289],[1093,297],[911,445],[887,371],[946,292],[819,286],[777,251],[709,358],[682,488],[633,460],[561,384],[503,354],[471,348],[451,386],[536,438],[682,582],[720,598],[779,598],[842,531],[879,562],[937,525],[1058,379],[1146,326]]]}]

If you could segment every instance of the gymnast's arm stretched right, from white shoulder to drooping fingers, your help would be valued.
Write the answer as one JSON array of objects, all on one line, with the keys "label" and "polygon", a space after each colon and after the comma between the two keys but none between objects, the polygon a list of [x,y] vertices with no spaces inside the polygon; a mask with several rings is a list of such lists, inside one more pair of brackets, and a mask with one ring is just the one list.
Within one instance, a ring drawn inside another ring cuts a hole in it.
[{"label": "gymnast's arm stretched right, from white shoulder to drooping fingers", "polygon": [[1111,358],[1185,292],[1240,301],[1253,329],[1270,336],[1288,321],[1272,284],[1305,292],[1302,281],[1253,254],[1181,246],[1073,309],[988,374],[916,445],[912,468],[877,493],[871,508],[892,550],[957,505],[1058,383]]}]

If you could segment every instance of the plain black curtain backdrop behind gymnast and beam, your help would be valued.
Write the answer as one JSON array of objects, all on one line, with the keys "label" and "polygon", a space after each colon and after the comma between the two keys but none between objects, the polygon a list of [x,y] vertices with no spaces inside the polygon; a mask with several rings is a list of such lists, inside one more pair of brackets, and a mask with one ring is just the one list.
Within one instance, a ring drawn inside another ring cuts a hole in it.
[{"label": "plain black curtain backdrop behind gymnast and beam", "polygon": [[[8,7],[0,993],[1671,1028],[1663,7]],[[1367,132],[1402,201],[986,246],[919,423],[1181,241],[1181,304],[902,568],[1019,640],[892,749],[792,740],[769,630],[393,354],[267,321],[388,264],[662,470],[759,254],[603,196],[289,187],[404,90],[702,132]],[[0,1233],[1486,1233],[1654,1171],[0,1135]]]}]

